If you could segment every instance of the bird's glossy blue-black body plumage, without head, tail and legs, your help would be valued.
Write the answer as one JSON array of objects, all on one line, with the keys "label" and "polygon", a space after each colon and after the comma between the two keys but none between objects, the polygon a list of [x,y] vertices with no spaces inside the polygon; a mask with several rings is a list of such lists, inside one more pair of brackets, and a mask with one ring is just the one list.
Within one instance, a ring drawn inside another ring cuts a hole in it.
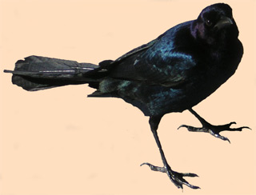
[{"label": "bird's glossy blue-black body plumage, without head, tail and legs", "polygon": [[[210,54],[220,48],[197,42],[191,34],[194,22],[174,26],[112,62],[108,82],[100,83],[91,96],[122,98],[147,116],[182,112],[208,97],[234,74],[242,58],[242,44],[236,38],[228,48],[221,48],[234,57],[216,59]],[[122,86],[127,81],[129,84]]]}]

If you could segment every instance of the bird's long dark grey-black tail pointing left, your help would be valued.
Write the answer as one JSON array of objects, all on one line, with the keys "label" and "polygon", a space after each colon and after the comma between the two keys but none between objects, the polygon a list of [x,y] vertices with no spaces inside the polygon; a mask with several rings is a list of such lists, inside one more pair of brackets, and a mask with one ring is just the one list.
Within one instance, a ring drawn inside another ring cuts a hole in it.
[{"label": "bird's long dark grey-black tail pointing left", "polygon": [[12,82],[24,90],[46,90],[58,86],[90,83],[94,86],[106,74],[100,66],[90,63],[30,56],[15,63]]}]

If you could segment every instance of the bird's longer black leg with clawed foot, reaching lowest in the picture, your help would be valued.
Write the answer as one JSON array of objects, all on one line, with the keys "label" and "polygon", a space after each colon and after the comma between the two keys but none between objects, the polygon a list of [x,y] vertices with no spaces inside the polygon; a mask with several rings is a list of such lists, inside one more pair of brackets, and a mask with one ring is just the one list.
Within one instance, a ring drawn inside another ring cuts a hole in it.
[{"label": "bird's longer black leg with clawed foot, reaching lowest in the picture", "polygon": [[157,142],[158,145],[158,149],[161,153],[161,157],[162,157],[162,162],[163,162],[163,167],[158,167],[158,166],[154,166],[151,165],[150,163],[146,162],[143,163],[142,165],[148,165],[150,167],[151,170],[154,171],[159,171],[162,173],[167,173],[168,177],[170,178],[171,181],[174,182],[174,185],[176,185],[178,188],[183,188],[182,185],[187,185],[192,189],[199,189],[198,186],[195,185],[190,185],[183,177],[198,177],[197,174],[194,173],[178,173],[175,172],[174,170],[170,169],[170,165],[168,165],[167,161],[166,161],[166,157],[165,154],[163,153],[162,150],[162,145],[159,141],[158,138],[158,133],[157,133],[157,129],[158,129],[158,124],[161,120],[162,116],[158,116],[158,117],[150,117],[150,128],[151,131],[154,135],[154,139]]}]

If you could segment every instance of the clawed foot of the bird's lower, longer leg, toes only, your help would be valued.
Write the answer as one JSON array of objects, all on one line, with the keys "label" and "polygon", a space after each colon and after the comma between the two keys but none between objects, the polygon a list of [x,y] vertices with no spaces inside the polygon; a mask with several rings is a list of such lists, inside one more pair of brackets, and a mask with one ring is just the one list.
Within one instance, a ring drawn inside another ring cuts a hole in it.
[{"label": "clawed foot of the bird's lower, longer leg, toes only", "polygon": [[[170,181],[174,182],[174,185],[176,185],[179,188],[183,189],[182,185],[187,185],[191,189],[200,189],[198,186],[195,185],[190,185],[183,177],[198,177],[197,174],[194,173],[178,173],[170,169],[170,166],[167,164],[164,167],[159,167],[159,166],[154,166],[151,165],[150,163],[143,163],[142,165],[148,165],[151,170],[154,171],[159,171],[162,173],[167,173],[168,177],[170,178]],[[141,166],[142,166],[141,165]]]}]

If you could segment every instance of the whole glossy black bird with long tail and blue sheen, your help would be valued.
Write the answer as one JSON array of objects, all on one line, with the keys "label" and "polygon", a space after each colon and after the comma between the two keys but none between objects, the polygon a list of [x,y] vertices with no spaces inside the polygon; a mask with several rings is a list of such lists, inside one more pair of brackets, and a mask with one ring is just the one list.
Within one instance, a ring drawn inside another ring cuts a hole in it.
[{"label": "whole glossy black bird with long tail and blue sheen", "polygon": [[89,97],[114,97],[138,107],[150,117],[150,129],[161,153],[163,167],[150,169],[167,173],[178,188],[190,185],[183,177],[194,173],[178,173],[170,168],[158,138],[158,125],[166,113],[190,110],[202,123],[201,128],[181,125],[189,131],[206,132],[224,141],[219,133],[241,131],[227,125],[211,125],[192,109],[218,89],[242,59],[243,47],[238,40],[238,26],[232,9],[224,3],[207,6],[198,18],[181,23],[145,45],[112,61],[90,63],[30,56],[19,60],[12,82],[24,90],[45,90],[58,86],[88,83],[96,89]]}]

